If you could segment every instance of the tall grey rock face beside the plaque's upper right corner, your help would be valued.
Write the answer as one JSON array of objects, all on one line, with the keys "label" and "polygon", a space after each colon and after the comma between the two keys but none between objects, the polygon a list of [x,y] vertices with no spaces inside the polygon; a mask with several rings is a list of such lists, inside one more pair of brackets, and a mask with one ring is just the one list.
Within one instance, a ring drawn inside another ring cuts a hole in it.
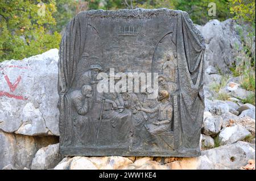
[{"label": "tall grey rock face beside the plaque's upper right corner", "polygon": [[[232,19],[220,22],[210,20],[204,26],[197,26],[205,39],[205,67],[209,65],[228,73],[230,66],[236,61],[237,50],[241,48],[238,25]],[[238,47],[238,49],[237,49]],[[214,71],[210,71],[213,72]]]}]

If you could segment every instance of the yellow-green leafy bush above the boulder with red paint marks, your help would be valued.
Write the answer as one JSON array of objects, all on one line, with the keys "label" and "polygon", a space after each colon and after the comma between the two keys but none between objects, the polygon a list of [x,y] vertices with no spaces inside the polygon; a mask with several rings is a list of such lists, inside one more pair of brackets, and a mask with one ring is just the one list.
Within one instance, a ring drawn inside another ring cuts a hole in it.
[{"label": "yellow-green leafy bush above the boulder with red paint marks", "polygon": [[[22,59],[59,47],[60,35],[51,32],[56,22],[55,1],[0,1],[0,61]],[[43,15],[44,14],[44,15]]]}]

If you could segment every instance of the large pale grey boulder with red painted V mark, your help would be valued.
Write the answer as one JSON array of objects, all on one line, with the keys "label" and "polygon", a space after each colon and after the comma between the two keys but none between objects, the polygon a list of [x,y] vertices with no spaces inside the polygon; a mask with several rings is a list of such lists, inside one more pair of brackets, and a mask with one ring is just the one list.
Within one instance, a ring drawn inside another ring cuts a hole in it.
[{"label": "large pale grey boulder with red painted V mark", "polygon": [[0,129],[59,136],[58,50],[0,64]]}]

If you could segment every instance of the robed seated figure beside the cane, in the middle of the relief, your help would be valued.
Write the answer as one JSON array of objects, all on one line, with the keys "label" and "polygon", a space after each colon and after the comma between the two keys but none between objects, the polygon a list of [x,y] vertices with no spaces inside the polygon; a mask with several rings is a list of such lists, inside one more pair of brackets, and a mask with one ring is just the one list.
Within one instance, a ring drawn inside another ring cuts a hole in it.
[{"label": "robed seated figure beside the cane, in the middle of the relief", "polygon": [[97,102],[103,104],[102,99],[102,124],[97,125],[100,129],[97,144],[127,147],[131,132],[131,112],[125,108],[122,95],[117,92],[98,93]]}]

